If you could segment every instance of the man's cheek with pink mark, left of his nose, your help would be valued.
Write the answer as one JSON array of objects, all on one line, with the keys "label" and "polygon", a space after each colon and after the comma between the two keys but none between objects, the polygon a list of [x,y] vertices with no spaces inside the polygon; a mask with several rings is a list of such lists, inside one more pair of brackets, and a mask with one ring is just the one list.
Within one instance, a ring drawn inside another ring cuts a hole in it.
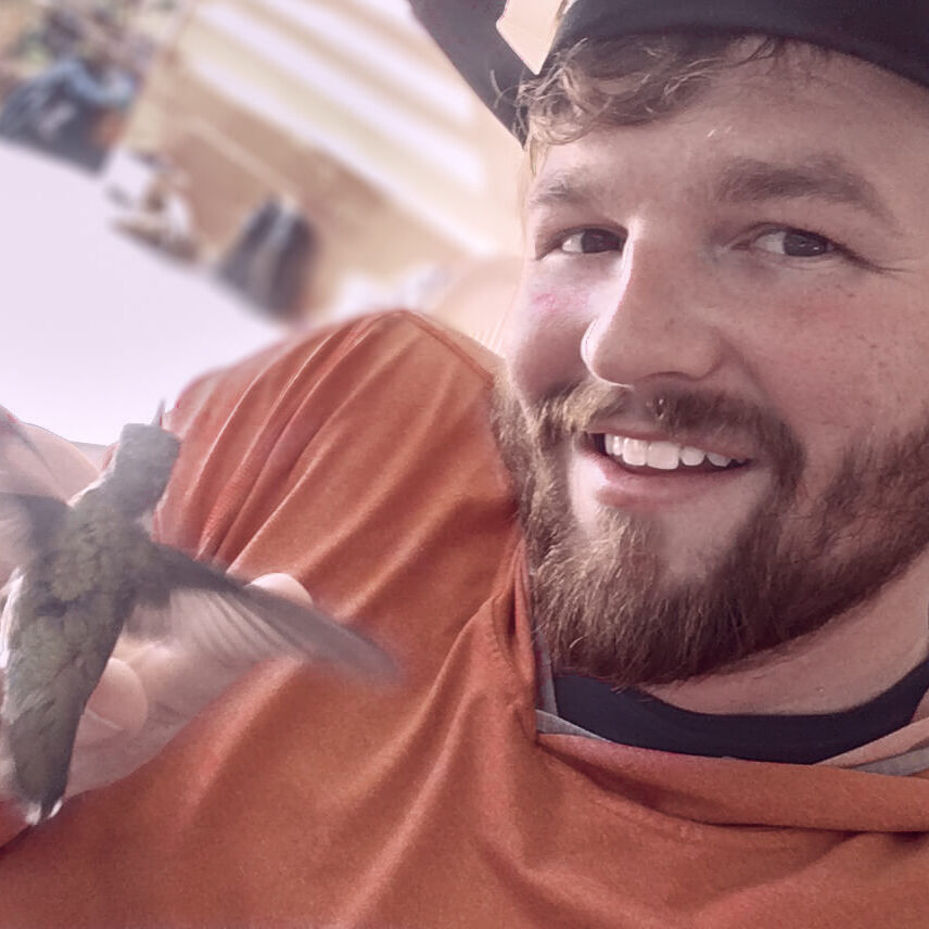
[{"label": "man's cheek with pink mark, left of his nose", "polygon": [[520,292],[505,353],[522,394],[537,399],[584,377],[581,340],[589,322],[587,303],[583,293],[563,283]]}]

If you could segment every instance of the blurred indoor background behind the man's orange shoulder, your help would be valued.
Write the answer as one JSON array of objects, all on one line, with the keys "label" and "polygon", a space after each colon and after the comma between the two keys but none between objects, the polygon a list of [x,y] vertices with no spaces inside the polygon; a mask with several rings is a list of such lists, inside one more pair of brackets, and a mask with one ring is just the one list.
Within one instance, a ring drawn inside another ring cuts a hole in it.
[{"label": "blurred indoor background behind the man's orange shoulder", "polygon": [[0,404],[93,455],[294,329],[496,348],[520,164],[406,0],[0,0]]}]

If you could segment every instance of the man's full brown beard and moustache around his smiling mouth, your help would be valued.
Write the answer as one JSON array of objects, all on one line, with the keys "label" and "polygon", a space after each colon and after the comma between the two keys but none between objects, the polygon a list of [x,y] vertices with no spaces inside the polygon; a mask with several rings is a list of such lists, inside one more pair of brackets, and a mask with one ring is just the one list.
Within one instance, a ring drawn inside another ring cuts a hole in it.
[{"label": "man's full brown beard and moustache around his smiling mouth", "polygon": [[771,489],[703,575],[671,581],[659,526],[603,508],[572,512],[567,450],[628,391],[590,383],[525,408],[501,376],[494,431],[526,539],[531,609],[556,673],[615,688],[751,666],[866,602],[929,545],[929,417],[892,441],[850,445],[825,489],[798,502],[805,461],[769,412],[722,395],[647,403],[675,432],[741,435],[772,462]]}]

